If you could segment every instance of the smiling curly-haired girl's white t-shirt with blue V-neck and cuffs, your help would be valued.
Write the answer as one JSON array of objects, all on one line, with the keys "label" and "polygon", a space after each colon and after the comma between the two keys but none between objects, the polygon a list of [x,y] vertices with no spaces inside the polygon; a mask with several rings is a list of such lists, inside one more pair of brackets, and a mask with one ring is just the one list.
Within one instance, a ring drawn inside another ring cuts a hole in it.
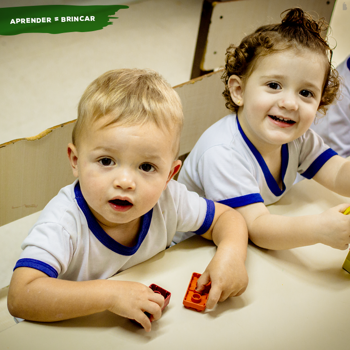
[{"label": "smiling curly-haired girl's white t-shirt with blue V-neck and cuffs", "polygon": [[203,133],[186,158],[178,181],[188,190],[232,208],[257,202],[268,205],[292,187],[297,172],[312,178],[335,154],[310,129],[282,145],[280,189],[236,115],[230,114]]}]

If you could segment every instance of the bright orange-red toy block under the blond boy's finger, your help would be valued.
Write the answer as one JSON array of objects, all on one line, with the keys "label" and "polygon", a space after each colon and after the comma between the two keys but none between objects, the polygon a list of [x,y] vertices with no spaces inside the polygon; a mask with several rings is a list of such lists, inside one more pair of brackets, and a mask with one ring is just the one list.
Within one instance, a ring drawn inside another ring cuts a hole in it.
[{"label": "bright orange-red toy block under the blond boy's finger", "polygon": [[206,308],[207,300],[208,300],[208,294],[211,287],[211,282],[209,282],[204,290],[201,292],[196,291],[197,287],[197,280],[201,274],[193,272],[192,277],[190,280],[190,284],[187,288],[185,297],[183,299],[183,304],[187,309],[194,309],[198,312],[204,311]]}]

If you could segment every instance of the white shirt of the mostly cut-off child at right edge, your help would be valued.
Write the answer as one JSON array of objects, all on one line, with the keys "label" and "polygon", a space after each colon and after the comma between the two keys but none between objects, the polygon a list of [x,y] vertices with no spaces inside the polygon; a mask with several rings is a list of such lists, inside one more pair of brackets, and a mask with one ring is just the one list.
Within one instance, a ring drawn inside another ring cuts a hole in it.
[{"label": "white shirt of the mostly cut-off child at right edge", "polygon": [[337,71],[343,78],[339,101],[330,105],[326,116],[317,120],[311,128],[336,151],[339,156],[350,156],[350,56]]}]

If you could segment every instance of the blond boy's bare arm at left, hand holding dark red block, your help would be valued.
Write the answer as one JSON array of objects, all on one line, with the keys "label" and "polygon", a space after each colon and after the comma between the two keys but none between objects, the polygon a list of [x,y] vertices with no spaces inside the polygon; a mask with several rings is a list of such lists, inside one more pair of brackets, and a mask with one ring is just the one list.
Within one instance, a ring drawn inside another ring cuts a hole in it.
[{"label": "blond boy's bare arm at left, hand holding dark red block", "polygon": [[51,322],[109,310],[135,319],[146,332],[161,316],[164,297],[138,282],[116,280],[68,281],[48,277],[29,267],[18,267],[7,298],[10,314],[32,321]]}]

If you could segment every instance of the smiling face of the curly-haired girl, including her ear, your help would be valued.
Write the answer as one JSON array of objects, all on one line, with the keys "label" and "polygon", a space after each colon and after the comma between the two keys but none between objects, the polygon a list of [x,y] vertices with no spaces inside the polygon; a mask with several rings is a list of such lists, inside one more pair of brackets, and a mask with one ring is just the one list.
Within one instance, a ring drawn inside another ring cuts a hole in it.
[{"label": "smiling face of the curly-haired girl, including her ear", "polygon": [[303,135],[315,119],[326,73],[325,57],[311,51],[282,51],[259,59],[242,84],[231,76],[238,118],[258,148],[282,145]]}]

